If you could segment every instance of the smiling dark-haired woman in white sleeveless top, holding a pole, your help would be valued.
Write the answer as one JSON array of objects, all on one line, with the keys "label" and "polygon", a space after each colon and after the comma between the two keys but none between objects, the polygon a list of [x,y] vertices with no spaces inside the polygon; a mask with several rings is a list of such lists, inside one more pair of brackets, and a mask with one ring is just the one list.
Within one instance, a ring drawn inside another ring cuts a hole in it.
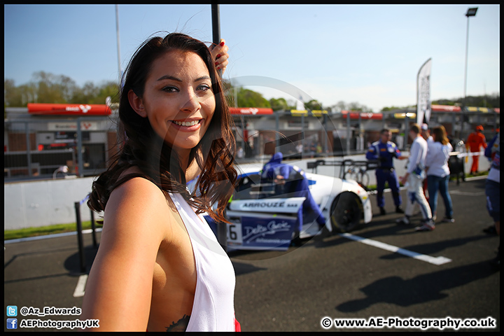
[{"label": "smiling dark-haired woman in white sleeveless top, holding a pole", "polygon": [[237,179],[216,69],[227,50],[168,34],[146,41],[128,65],[125,137],[88,202],[104,211],[104,228],[82,315],[100,330],[235,331],[235,272],[202,216],[225,221]]}]

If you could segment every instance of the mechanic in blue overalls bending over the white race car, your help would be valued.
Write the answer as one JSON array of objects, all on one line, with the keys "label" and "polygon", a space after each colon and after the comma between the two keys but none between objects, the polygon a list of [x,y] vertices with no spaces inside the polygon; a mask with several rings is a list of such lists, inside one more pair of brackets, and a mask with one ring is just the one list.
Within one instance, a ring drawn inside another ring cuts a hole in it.
[{"label": "mechanic in blue overalls bending over the white race car", "polygon": [[274,153],[269,162],[262,167],[261,179],[272,180],[275,183],[285,183],[286,181],[294,180],[296,184],[292,194],[293,197],[305,197],[302,207],[297,211],[297,228],[295,229],[295,239],[293,239],[293,241],[299,241],[303,218],[307,219],[308,222],[316,220],[318,228],[321,229],[325,225],[325,217],[311,196],[306,174],[296,166],[281,163],[282,160],[282,153]]}]

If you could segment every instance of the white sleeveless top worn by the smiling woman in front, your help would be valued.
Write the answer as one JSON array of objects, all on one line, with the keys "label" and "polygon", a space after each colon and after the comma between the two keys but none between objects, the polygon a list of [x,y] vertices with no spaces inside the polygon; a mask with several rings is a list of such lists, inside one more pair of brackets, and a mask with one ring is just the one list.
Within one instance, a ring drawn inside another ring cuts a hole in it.
[{"label": "white sleeveless top worn by the smiling woman in front", "polygon": [[169,194],[188,231],[196,291],[186,331],[235,331],[235,269],[214,232],[180,194]]}]

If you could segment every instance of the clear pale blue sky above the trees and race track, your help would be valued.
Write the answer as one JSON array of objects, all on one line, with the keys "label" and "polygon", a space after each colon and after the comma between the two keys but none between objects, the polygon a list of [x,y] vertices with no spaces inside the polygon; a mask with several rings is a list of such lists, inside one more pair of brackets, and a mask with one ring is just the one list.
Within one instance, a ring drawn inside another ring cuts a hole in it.
[{"label": "clear pale blue sky above the trees and race track", "polygon": [[[230,47],[225,78],[266,99],[416,104],[416,75],[432,58],[432,100],[500,92],[499,5],[221,5]],[[211,41],[210,5],[119,5],[120,60],[157,31]],[[4,5],[4,79],[36,71],[78,85],[118,78],[116,6]],[[260,77],[251,77],[260,76]]]}]

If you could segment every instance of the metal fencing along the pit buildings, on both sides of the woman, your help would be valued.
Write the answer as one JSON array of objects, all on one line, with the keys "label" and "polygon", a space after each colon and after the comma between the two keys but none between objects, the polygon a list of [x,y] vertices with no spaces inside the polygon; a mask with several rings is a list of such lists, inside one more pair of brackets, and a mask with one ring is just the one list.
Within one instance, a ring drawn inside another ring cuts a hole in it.
[{"label": "metal fencing along the pit buildings, on both sides of the woman", "polygon": [[[274,151],[281,151],[286,160],[360,154],[379,139],[383,128],[391,130],[392,141],[400,150],[409,148],[409,125],[415,122],[409,118],[409,111],[382,113],[379,119],[372,113],[315,112],[234,115],[237,162],[263,161]],[[83,177],[104,172],[118,149],[113,120],[113,116],[5,120],[5,181]],[[457,139],[465,139],[480,123],[485,126],[485,136],[492,137],[492,130],[500,124],[496,113],[433,113],[430,120],[430,127],[444,125],[448,134]]]}]

